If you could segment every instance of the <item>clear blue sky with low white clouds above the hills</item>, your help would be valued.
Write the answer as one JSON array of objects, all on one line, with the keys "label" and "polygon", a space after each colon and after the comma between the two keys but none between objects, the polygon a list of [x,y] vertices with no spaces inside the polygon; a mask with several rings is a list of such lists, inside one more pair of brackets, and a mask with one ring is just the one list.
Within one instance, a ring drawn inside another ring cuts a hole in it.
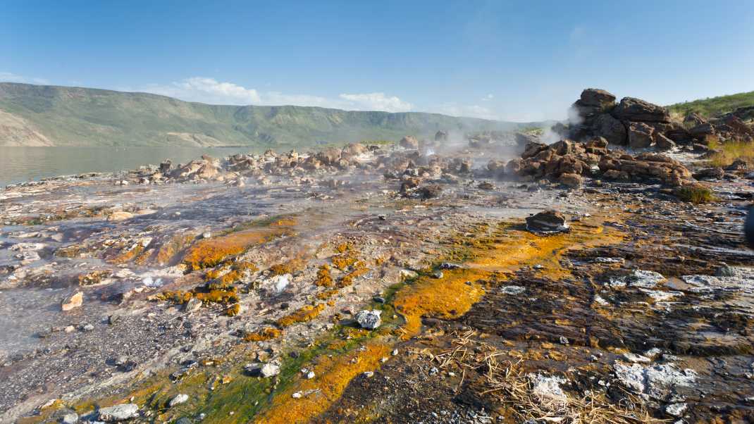
[{"label": "clear blue sky with low white clouds above the hills", "polygon": [[0,81],[559,119],[754,90],[754,2],[2,0]]}]

